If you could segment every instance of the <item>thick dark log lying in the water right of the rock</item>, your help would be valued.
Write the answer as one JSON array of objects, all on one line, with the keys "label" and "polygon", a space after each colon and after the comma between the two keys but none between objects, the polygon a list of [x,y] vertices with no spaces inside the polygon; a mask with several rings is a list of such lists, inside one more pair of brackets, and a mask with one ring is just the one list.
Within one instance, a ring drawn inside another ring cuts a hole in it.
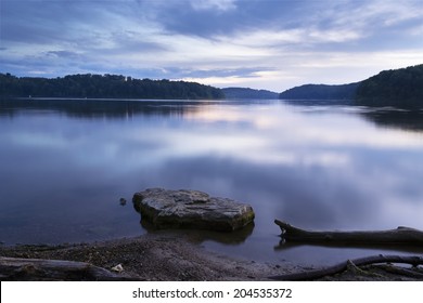
[{"label": "thick dark log lying in the water right of the rock", "polygon": [[403,226],[389,230],[312,232],[294,227],[279,220],[274,220],[274,223],[281,228],[281,237],[287,242],[345,242],[347,245],[412,245],[423,247],[423,232]]}]

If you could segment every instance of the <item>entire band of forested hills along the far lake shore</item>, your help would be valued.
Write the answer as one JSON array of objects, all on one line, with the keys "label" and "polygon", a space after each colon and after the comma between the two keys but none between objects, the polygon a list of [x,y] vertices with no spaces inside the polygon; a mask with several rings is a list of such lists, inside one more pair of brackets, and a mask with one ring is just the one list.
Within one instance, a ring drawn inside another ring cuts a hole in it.
[{"label": "entire band of forested hills along the far lake shore", "polygon": [[[277,98],[278,94],[247,88],[217,89],[195,82],[134,79],[121,75],[72,75],[57,78],[15,77],[0,74],[1,97],[75,97],[146,100]],[[307,103],[364,106],[423,106],[423,64],[384,70],[360,82],[305,84],[279,94],[279,98]]]}]

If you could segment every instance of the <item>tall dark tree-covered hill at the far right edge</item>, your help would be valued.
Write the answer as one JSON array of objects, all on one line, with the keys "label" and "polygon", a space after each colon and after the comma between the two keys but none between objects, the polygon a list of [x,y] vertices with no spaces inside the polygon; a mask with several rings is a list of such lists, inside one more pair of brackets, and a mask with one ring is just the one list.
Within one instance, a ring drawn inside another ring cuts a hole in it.
[{"label": "tall dark tree-covered hill at the far right edge", "polygon": [[423,106],[423,64],[384,70],[362,81],[356,103],[368,106]]}]

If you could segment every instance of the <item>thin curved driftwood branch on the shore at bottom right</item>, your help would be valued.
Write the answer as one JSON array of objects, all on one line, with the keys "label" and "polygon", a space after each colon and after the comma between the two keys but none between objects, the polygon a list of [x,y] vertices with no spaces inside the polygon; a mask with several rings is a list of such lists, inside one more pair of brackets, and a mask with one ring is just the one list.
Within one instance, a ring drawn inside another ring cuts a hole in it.
[{"label": "thin curved driftwood branch on the shore at bottom right", "polygon": [[[363,266],[370,264],[379,264],[379,263],[402,263],[402,264],[411,264],[413,266],[423,264],[423,256],[402,256],[402,255],[372,255],[367,258],[360,258],[355,260],[344,261],[334,266],[325,267],[317,271],[309,271],[303,273],[294,273],[286,274],[280,276],[271,276],[269,279],[272,280],[313,280],[319,279],[325,276],[332,276],[338,273],[342,273],[348,268],[348,266]],[[423,279],[419,275],[420,278]]]}]

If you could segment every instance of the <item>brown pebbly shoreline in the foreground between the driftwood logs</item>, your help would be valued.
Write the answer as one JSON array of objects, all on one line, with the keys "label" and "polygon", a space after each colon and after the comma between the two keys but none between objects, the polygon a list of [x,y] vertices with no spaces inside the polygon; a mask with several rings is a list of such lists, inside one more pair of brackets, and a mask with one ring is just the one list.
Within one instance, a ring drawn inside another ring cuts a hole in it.
[{"label": "brown pebbly shoreline in the foreground between the driftwood logs", "polygon": [[[291,262],[268,263],[232,258],[206,250],[189,236],[172,233],[148,234],[133,238],[90,243],[17,245],[0,246],[0,256],[85,262],[107,271],[119,265],[117,273],[131,280],[163,281],[230,281],[269,280],[275,275],[320,269],[320,266],[302,266]],[[386,265],[387,266],[387,265]],[[385,266],[385,267],[386,267]],[[396,267],[389,265],[390,267]],[[422,269],[418,268],[418,273]],[[1,272],[0,272],[1,277]],[[30,277],[22,280],[33,280]],[[35,280],[54,280],[48,275]],[[60,279],[60,280],[67,280]],[[349,267],[347,271],[318,280],[423,280],[418,276],[405,276],[379,265]]]}]

